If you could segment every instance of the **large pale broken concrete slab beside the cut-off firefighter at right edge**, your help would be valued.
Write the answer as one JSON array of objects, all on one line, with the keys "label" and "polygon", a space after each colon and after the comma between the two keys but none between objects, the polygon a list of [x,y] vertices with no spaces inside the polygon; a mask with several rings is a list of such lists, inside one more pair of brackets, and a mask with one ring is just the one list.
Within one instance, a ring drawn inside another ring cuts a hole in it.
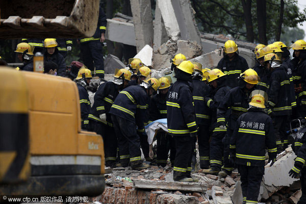
[{"label": "large pale broken concrete slab beside the cut-off firefighter at right edge", "polygon": [[294,165],[295,154],[293,151],[288,152],[287,155],[277,160],[273,166],[265,167],[264,181],[267,186],[284,187],[290,186],[298,179],[293,179],[288,172]]}]

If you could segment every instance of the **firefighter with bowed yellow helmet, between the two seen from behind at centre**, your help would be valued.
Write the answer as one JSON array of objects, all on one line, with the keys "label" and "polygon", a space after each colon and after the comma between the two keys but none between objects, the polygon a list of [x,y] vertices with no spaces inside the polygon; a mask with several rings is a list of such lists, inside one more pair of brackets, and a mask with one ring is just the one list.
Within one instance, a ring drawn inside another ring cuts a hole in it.
[{"label": "firefighter with bowed yellow helmet, between the two seen from behind at centre", "polygon": [[211,109],[210,131],[213,132],[213,135],[210,143],[210,168],[204,169],[203,173],[218,174],[222,166],[222,139],[226,134],[226,128],[221,129],[217,125],[217,108],[230,90],[230,87],[226,86],[226,75],[220,69],[206,71],[204,74],[207,76],[207,81],[212,87],[210,96],[205,97],[205,105]]}]

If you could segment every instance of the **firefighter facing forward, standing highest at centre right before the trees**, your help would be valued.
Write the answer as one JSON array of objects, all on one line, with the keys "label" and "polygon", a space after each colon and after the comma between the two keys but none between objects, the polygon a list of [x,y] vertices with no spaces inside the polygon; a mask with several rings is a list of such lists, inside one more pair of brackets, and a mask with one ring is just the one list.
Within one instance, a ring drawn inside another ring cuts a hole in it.
[{"label": "firefighter facing forward, standing highest at centre right before the trees", "polygon": [[234,88],[238,86],[236,79],[248,69],[248,64],[243,57],[238,55],[238,46],[233,40],[225,42],[223,56],[217,68],[226,74],[226,85]]}]

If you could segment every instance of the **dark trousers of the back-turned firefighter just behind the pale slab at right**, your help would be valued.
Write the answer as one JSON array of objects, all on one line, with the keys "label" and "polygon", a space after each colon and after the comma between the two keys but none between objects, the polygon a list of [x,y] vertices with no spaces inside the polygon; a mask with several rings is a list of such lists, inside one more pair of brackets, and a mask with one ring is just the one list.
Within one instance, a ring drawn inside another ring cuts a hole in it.
[{"label": "dark trousers of the back-turned firefighter just behind the pale slab at right", "polygon": [[286,133],[286,126],[288,126],[289,122],[288,115],[276,115],[273,117],[274,119],[274,134],[277,145],[277,153],[283,151],[284,140],[288,141],[288,134]]}]

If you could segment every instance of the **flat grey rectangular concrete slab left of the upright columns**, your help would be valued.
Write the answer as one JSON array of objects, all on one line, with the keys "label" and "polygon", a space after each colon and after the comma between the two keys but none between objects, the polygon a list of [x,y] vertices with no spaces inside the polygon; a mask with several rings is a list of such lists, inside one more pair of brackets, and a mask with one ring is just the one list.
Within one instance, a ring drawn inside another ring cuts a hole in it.
[{"label": "flat grey rectangular concrete slab left of the upright columns", "polygon": [[107,19],[106,39],[136,46],[134,24]]}]

